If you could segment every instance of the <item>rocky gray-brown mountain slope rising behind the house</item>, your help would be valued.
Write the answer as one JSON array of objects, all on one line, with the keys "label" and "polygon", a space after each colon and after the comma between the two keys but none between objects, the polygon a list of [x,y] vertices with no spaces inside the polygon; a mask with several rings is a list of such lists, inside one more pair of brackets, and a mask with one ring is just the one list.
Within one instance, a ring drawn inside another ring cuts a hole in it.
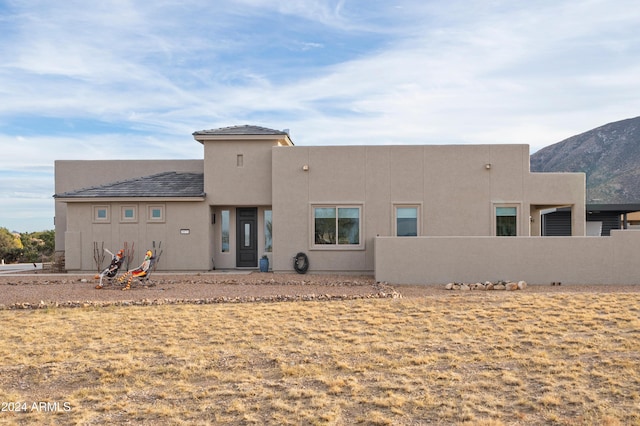
[{"label": "rocky gray-brown mountain slope rising behind the house", "polygon": [[587,204],[640,203],[640,117],[605,124],[531,155],[532,172],[584,172]]}]

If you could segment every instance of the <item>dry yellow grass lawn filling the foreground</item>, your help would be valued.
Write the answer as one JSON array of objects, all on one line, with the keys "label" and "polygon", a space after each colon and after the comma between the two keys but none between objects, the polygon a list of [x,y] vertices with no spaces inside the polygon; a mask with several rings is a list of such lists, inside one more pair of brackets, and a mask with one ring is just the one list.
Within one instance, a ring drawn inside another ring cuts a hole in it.
[{"label": "dry yellow grass lawn filling the foreground", "polygon": [[640,424],[639,293],[52,308],[0,321],[0,424]]}]

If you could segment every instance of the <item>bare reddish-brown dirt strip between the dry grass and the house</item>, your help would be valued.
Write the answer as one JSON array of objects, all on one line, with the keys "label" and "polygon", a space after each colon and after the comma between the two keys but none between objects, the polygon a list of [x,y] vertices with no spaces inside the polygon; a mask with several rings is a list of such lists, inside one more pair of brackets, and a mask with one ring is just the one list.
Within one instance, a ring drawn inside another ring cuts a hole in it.
[{"label": "bare reddish-brown dirt strip between the dry grass and the house", "polygon": [[[443,285],[376,283],[371,276],[208,272],[156,273],[150,282],[135,283],[129,291],[119,285],[95,289],[90,274],[0,275],[0,309],[109,304],[239,303],[285,300],[448,296],[481,291],[451,291]],[[528,293],[640,292],[640,285],[529,285]],[[491,293],[495,293],[492,291]]]}]

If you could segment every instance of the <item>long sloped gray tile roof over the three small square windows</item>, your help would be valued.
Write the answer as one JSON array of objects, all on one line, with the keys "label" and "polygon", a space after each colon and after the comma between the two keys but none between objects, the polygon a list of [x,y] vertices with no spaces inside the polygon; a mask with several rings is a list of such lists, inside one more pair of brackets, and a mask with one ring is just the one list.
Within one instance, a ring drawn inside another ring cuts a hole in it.
[{"label": "long sloped gray tile roof over the three small square windows", "polygon": [[204,173],[164,172],[55,194],[54,198],[204,197]]}]

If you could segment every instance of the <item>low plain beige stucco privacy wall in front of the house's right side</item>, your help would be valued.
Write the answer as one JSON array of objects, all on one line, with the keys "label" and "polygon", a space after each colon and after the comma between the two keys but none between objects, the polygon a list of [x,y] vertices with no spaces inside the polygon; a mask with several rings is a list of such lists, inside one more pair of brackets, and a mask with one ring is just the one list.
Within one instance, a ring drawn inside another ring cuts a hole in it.
[{"label": "low plain beige stucco privacy wall in front of the house's right side", "polygon": [[640,230],[610,237],[379,237],[375,277],[394,284],[635,284],[638,253]]}]

